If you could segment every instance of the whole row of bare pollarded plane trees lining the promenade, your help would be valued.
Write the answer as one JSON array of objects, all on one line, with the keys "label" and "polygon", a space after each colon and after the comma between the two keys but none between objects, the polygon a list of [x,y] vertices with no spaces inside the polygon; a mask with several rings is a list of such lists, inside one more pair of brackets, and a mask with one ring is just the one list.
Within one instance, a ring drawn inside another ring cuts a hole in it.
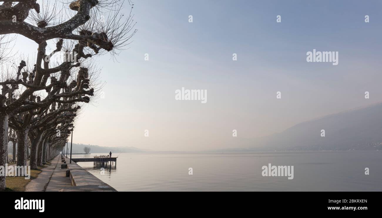
[{"label": "whole row of bare pollarded plane trees lining the promenade", "polygon": [[[122,13],[123,0],[0,0],[0,166],[10,141],[17,165],[30,148],[32,169],[62,151],[81,106],[102,88],[95,60],[118,54],[136,32],[131,9]],[[20,35],[34,58],[12,53]]]}]

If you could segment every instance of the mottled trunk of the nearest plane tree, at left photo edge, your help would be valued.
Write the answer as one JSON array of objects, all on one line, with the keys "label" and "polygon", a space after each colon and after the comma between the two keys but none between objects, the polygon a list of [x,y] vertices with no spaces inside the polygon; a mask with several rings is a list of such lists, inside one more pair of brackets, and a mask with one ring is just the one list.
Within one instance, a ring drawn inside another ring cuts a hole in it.
[{"label": "mottled trunk of the nearest plane tree, at left photo edge", "polygon": [[[0,166],[5,167],[8,162],[8,115],[0,113],[0,141],[2,145],[0,146]],[[4,169],[5,171],[5,169]],[[0,191],[5,190],[5,175],[0,175]]]}]

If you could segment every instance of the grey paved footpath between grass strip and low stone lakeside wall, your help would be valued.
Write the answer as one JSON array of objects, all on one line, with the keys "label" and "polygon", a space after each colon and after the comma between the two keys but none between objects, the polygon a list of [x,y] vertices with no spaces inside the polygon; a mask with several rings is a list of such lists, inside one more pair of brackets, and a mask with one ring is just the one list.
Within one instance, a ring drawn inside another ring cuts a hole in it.
[{"label": "grey paved footpath between grass strip and low stone lakeside wall", "polygon": [[[69,163],[69,159],[66,159]],[[71,187],[69,177],[66,177],[66,169],[61,169],[61,154],[52,160],[52,164],[42,168],[37,178],[31,180],[25,191],[58,191],[61,188]]]}]

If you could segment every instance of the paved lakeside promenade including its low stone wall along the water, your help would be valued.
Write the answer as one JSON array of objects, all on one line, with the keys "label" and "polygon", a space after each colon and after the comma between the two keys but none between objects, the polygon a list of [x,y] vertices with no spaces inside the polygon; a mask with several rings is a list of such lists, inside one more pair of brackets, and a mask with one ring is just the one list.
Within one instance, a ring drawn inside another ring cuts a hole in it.
[{"label": "paved lakeside promenade including its low stone wall along the water", "polygon": [[[62,159],[67,168],[62,168]],[[69,163],[69,159],[59,154],[52,159],[52,164],[42,169],[37,178],[31,180],[25,191],[117,191],[104,183],[78,164]],[[69,176],[66,172],[70,170]]]}]

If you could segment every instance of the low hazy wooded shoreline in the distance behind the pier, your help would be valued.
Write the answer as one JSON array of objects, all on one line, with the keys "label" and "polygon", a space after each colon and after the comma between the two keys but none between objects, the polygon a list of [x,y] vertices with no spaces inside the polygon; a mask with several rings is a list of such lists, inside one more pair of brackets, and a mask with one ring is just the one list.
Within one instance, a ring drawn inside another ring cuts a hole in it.
[{"label": "low hazy wooded shoreline in the distance behind the pier", "polygon": [[[141,153],[144,152],[136,147],[102,147],[98,145],[92,145],[92,144],[76,144],[73,143],[72,147],[72,153],[84,153],[84,147],[88,146],[90,147],[90,153],[105,153],[108,154],[110,151],[113,154],[119,154],[119,153]],[[70,142],[68,143],[69,152],[70,152]],[[66,148],[66,146],[65,146]]]}]

